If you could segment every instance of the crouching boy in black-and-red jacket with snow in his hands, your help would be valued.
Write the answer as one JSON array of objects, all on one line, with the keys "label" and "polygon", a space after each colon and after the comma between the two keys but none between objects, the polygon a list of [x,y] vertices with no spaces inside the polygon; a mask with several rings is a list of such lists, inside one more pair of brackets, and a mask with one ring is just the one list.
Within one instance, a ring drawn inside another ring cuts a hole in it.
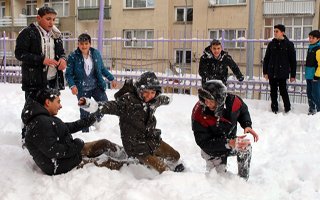
[{"label": "crouching boy in black-and-red jacket with snow in his hands", "polygon": [[192,111],[192,130],[207,170],[226,172],[228,156],[237,155],[238,175],[249,178],[251,161],[250,140],[237,136],[237,122],[244,133],[258,134],[251,128],[252,122],[247,105],[239,96],[227,93],[220,80],[207,81],[198,90],[199,101]]}]

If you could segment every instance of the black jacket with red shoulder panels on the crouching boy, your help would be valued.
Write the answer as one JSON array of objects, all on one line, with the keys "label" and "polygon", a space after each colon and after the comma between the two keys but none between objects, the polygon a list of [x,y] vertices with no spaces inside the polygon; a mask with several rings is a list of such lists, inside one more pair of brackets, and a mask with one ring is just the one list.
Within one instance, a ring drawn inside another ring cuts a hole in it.
[{"label": "black jacket with red shoulder panels on the crouching boy", "polygon": [[218,120],[200,101],[192,111],[192,130],[197,145],[210,156],[228,154],[230,139],[236,138],[237,122],[242,128],[251,127],[247,105],[240,97],[228,94],[222,116]]}]

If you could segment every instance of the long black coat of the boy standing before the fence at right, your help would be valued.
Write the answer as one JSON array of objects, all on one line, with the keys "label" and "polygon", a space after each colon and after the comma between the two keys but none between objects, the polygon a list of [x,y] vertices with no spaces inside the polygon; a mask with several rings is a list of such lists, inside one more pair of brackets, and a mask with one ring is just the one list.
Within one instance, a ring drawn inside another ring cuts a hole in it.
[{"label": "long black coat of the boy standing before the fence at right", "polygon": [[287,37],[273,40],[268,44],[263,60],[263,74],[270,79],[287,79],[296,77],[297,61],[294,45]]}]

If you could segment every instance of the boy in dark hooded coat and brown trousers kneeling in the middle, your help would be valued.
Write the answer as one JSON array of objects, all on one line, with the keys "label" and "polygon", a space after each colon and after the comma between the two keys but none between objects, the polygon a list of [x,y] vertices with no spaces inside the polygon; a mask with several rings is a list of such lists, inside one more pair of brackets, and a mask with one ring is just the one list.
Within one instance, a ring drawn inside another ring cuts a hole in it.
[{"label": "boy in dark hooded coat and brown trousers kneeling in the middle", "polygon": [[[156,75],[145,72],[135,83],[132,79],[127,80],[115,94],[116,100],[104,102],[99,110],[103,114],[119,116],[122,144],[129,157],[137,158],[159,173],[183,171],[184,166],[178,164],[180,154],[161,139],[161,130],[156,129],[156,109],[170,103],[169,97],[160,93]],[[90,102],[81,98],[79,105],[88,107]]]}]

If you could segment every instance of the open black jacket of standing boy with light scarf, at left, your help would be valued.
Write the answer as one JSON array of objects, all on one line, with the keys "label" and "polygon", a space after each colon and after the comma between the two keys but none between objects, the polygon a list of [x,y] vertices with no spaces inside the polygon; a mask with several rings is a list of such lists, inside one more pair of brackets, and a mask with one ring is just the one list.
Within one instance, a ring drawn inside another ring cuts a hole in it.
[{"label": "open black jacket of standing boy with light scarf, at left", "polygon": [[[61,37],[54,39],[55,60],[65,57]],[[42,53],[41,36],[34,24],[23,29],[17,37],[15,56],[22,61],[22,90],[33,91],[46,88],[47,68],[43,65],[45,59]],[[58,70],[58,89],[64,89],[63,71]]]}]

